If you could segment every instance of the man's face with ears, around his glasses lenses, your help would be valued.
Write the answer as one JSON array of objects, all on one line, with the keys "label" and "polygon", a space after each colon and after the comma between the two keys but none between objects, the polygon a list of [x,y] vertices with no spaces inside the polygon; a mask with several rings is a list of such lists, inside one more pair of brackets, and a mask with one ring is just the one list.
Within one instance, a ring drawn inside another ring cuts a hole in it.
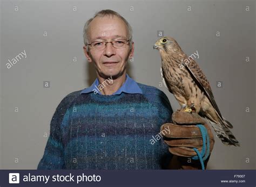
[{"label": "man's face with ears, around his glasses lenses", "polygon": [[[98,40],[112,41],[121,38],[129,40],[128,32],[122,19],[116,16],[105,16],[96,17],[91,21],[88,32],[89,44]],[[95,50],[90,46],[89,52],[86,51],[86,46],[84,46],[84,53],[89,62],[95,63],[97,73],[101,77],[119,77],[126,72],[126,62],[133,56],[133,49],[133,44],[130,52],[129,45],[126,45],[125,48],[117,49],[111,43],[107,43],[106,48],[102,50]]]}]

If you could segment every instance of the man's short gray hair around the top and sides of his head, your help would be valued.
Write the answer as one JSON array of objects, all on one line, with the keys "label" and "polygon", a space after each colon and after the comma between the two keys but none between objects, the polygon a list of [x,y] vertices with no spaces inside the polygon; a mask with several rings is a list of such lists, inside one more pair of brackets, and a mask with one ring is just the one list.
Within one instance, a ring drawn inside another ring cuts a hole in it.
[{"label": "man's short gray hair around the top and sides of his head", "polygon": [[126,19],[119,15],[119,13],[113,11],[113,10],[101,10],[95,13],[95,16],[90,18],[89,20],[86,21],[85,25],[84,25],[84,30],[83,30],[83,38],[84,38],[84,45],[87,46],[87,51],[89,51],[89,46],[88,46],[88,30],[89,30],[89,25],[91,23],[91,21],[96,18],[96,17],[104,17],[104,16],[116,16],[120,19],[122,19],[126,25],[127,31],[128,31],[128,38],[130,40],[130,50],[132,48],[132,27],[131,25],[128,23],[128,21],[126,21]]}]

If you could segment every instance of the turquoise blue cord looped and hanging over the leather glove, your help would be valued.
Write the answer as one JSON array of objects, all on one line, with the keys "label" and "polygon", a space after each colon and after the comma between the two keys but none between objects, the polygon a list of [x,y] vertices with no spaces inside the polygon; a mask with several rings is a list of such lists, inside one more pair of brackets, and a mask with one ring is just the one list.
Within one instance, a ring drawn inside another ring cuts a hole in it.
[{"label": "turquoise blue cord looped and hanging over the leather glove", "polygon": [[[199,152],[199,150],[197,148],[193,148],[194,151],[197,153],[196,156],[193,156],[192,159],[193,160],[200,160],[200,163],[201,163],[201,167],[203,170],[205,170],[205,166],[204,166],[204,161],[207,159],[207,157],[209,156],[210,154],[210,138],[208,136],[208,133],[207,133],[207,130],[205,128],[204,125],[201,125],[201,124],[198,124],[197,125],[200,129],[200,132],[202,134],[202,138],[203,138],[203,149],[201,151],[201,153]],[[207,141],[207,142],[205,142]],[[206,145],[207,144],[207,145]],[[206,148],[207,146],[207,148]],[[206,150],[205,150],[206,149]],[[205,154],[205,151],[206,151],[206,154]],[[203,156],[203,157],[202,157]]]}]

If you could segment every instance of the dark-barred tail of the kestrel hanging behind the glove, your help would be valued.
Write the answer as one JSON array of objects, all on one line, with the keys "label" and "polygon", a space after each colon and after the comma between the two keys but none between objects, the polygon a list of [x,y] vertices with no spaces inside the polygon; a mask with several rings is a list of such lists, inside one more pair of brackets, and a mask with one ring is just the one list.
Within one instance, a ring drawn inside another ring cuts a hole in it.
[{"label": "dark-barred tail of the kestrel hanging behind the glove", "polygon": [[223,142],[225,145],[240,146],[238,140],[235,138],[233,133],[228,129],[228,126],[231,125],[230,122],[226,122],[227,120],[219,120],[218,123],[215,124],[213,121],[209,121],[212,123],[213,129],[217,133],[216,136],[220,138],[221,142]]}]

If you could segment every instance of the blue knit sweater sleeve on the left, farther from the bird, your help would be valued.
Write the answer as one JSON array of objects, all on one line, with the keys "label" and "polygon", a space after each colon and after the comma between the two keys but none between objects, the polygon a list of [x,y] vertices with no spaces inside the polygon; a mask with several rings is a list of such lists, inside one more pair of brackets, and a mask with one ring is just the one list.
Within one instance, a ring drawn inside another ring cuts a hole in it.
[{"label": "blue knit sweater sleeve on the left, farther from the bird", "polygon": [[37,169],[65,169],[64,146],[61,123],[66,110],[70,106],[74,93],[66,96],[57,106],[50,123],[50,136],[45,146],[44,155]]}]

